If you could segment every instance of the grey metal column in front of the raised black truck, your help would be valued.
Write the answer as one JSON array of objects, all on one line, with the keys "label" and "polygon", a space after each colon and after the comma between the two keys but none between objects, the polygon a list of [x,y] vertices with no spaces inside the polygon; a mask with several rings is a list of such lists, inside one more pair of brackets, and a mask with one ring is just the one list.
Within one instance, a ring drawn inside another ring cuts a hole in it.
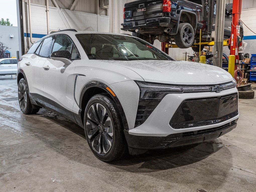
[{"label": "grey metal column in front of the raised black truck", "polygon": [[223,36],[225,21],[225,0],[216,1],[213,65],[222,67]]}]

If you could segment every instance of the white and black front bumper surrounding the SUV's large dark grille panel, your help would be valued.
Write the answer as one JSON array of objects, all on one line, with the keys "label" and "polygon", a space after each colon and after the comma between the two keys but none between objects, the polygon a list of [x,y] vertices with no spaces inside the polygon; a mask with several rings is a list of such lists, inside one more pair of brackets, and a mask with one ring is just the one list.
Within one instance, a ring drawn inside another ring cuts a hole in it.
[{"label": "white and black front bumper surrounding the SUV's large dark grille panel", "polygon": [[[166,95],[142,125],[124,131],[130,153],[135,155],[148,149],[200,143],[216,139],[228,133],[236,127],[239,113],[220,123],[184,129],[174,129],[169,122],[180,104],[186,99],[219,97],[234,93],[238,93],[236,88],[227,89],[220,93],[204,92]],[[202,114],[204,110],[201,111]]]}]

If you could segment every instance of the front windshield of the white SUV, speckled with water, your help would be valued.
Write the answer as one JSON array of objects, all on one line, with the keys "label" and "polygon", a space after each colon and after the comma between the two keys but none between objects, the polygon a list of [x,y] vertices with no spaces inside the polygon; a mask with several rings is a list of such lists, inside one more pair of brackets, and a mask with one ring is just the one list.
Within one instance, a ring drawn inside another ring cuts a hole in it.
[{"label": "front windshield of the white SUV, speckled with water", "polygon": [[89,59],[174,60],[139,38],[112,34],[76,34]]}]

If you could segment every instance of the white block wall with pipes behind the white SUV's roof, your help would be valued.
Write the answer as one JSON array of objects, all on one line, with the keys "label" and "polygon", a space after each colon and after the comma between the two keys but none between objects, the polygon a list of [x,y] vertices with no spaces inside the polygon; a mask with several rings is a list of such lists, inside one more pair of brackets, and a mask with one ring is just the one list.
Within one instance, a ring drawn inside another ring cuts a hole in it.
[{"label": "white block wall with pipes behind the white SUV's roof", "polygon": [[[109,31],[109,17],[80,11],[61,9],[72,29],[81,31]],[[23,2],[24,33],[29,33],[28,4]],[[49,7],[50,30],[67,29],[56,7]],[[31,29],[34,35],[47,35],[46,6],[31,4]],[[32,35],[33,37],[33,35]],[[32,38],[37,41],[39,38]],[[31,46],[29,37],[25,37],[25,47]],[[27,51],[27,50],[26,50]]]}]

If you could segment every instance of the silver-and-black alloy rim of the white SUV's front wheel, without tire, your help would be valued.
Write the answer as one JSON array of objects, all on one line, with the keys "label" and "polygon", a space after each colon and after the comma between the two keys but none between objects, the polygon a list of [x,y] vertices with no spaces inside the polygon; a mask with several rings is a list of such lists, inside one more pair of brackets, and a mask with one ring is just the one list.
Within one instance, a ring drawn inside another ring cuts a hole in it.
[{"label": "silver-and-black alloy rim of the white SUV's front wheel, without tire", "polygon": [[113,144],[113,124],[106,108],[94,103],[86,116],[86,133],[92,148],[99,154],[106,154]]}]

